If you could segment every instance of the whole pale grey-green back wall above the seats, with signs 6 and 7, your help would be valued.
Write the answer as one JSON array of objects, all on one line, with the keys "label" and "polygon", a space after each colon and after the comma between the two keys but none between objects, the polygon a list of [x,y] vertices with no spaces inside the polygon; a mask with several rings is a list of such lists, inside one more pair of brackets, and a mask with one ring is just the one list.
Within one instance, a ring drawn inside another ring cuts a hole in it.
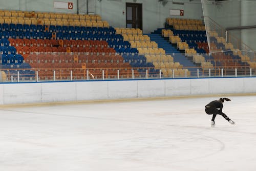
[{"label": "whole pale grey-green back wall above the seats, with signs 6 and 7", "polygon": [[[81,12],[86,12],[86,1],[75,0],[61,0],[60,2],[73,2],[73,10],[66,9],[54,9],[53,3],[57,0],[9,0],[8,3],[5,0],[0,0],[0,9],[5,10],[22,10],[22,11],[39,11],[39,12],[61,12],[61,13],[77,13],[77,9]],[[109,22],[113,27],[125,27],[125,3],[134,3],[133,0],[121,0],[121,1],[108,1],[102,0],[88,0],[89,12],[99,14],[102,16],[102,20]],[[79,7],[77,8],[77,2]],[[200,19],[203,16],[202,6],[200,0],[179,1],[184,5],[174,5],[172,1],[169,1],[165,6],[159,3],[157,0],[137,0],[136,3],[142,4],[142,16],[143,16],[143,32],[150,33],[157,28],[163,28],[164,23],[169,15],[169,9],[183,9],[184,16],[172,16],[181,18],[195,18]],[[95,8],[91,7],[94,5]],[[93,11],[94,10],[94,11]],[[124,14],[123,14],[124,11]]]}]

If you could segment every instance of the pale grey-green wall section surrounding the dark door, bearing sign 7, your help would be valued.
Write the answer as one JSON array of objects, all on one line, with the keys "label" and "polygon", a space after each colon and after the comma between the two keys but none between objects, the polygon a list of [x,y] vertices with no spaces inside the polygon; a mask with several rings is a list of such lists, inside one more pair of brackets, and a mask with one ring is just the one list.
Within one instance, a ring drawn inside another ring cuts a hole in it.
[{"label": "pale grey-green wall section surrounding the dark door, bearing sign 7", "polygon": [[[174,5],[172,1],[163,6],[157,0],[137,0],[142,4],[143,33],[150,33],[157,28],[163,28],[167,17],[201,19],[203,16],[200,0],[175,1],[184,5]],[[133,0],[95,2],[96,14],[100,14],[103,20],[110,23],[110,26],[125,28],[125,3],[134,3]],[[170,16],[169,9],[183,9],[184,16]],[[123,14],[124,12],[124,14]]]}]

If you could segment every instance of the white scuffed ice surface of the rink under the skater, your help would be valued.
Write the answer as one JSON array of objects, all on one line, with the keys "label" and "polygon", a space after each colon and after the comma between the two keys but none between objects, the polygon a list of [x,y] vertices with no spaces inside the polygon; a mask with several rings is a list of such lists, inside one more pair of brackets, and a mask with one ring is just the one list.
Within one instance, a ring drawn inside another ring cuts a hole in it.
[{"label": "white scuffed ice surface of the rink under the skater", "polygon": [[0,107],[3,171],[256,170],[256,97]]}]

